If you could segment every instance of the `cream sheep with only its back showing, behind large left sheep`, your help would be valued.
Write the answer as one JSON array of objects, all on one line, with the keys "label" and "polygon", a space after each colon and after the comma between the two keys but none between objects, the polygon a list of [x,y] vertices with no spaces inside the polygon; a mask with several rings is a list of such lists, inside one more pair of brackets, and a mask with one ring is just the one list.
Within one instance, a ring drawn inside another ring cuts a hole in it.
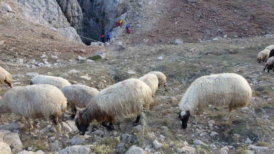
[{"label": "cream sheep with only its back showing, behind large left sheep", "polygon": [[37,75],[31,79],[30,85],[37,84],[49,84],[52,86],[56,86],[59,89],[62,89],[64,86],[71,85],[68,80],[63,79],[61,77],[48,76],[48,75]]}]

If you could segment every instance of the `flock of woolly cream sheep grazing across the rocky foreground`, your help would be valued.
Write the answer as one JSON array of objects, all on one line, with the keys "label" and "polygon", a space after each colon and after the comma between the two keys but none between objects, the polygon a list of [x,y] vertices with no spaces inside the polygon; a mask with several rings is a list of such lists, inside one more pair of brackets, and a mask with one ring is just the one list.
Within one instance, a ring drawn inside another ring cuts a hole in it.
[{"label": "flock of woolly cream sheep grazing across the rocky foreground", "polygon": [[[12,87],[10,73],[0,67],[0,84],[8,84],[12,88],[0,99],[0,114],[13,112],[19,119],[25,117],[29,129],[33,128],[30,118],[45,117],[54,124],[57,137],[61,139],[58,117],[69,105],[72,111],[70,117],[73,119],[76,116],[76,107],[84,108],[75,119],[80,135],[85,134],[93,120],[113,130],[115,118],[122,120],[132,114],[137,115],[134,124],[138,124],[143,108],[149,110],[156,90],[160,86],[166,89],[166,79],[162,72],[149,72],[139,79],[126,79],[98,91],[88,86],[71,85],[61,77],[37,75],[28,86]],[[178,104],[181,126],[187,128],[190,113],[198,108],[197,116],[192,122],[197,124],[203,108],[208,107],[209,103],[229,107],[223,118],[226,121],[232,110],[248,105],[251,95],[251,87],[241,75],[223,73],[202,76],[189,86]]]}]

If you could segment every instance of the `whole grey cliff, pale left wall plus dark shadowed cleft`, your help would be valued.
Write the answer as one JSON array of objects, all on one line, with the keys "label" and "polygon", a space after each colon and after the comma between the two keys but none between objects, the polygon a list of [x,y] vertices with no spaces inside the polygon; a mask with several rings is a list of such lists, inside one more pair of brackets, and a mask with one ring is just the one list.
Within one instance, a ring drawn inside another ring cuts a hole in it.
[{"label": "whole grey cliff, pale left wall plus dark shadowed cleft", "polygon": [[[111,32],[115,21],[123,19],[125,25],[127,6],[125,0],[17,0],[23,15],[34,22],[53,26],[69,39],[85,44],[99,40],[100,34]],[[123,27],[124,28],[124,27]],[[114,29],[112,36],[123,30]],[[79,35],[83,36],[82,38]],[[81,41],[82,39],[82,41]]]}]

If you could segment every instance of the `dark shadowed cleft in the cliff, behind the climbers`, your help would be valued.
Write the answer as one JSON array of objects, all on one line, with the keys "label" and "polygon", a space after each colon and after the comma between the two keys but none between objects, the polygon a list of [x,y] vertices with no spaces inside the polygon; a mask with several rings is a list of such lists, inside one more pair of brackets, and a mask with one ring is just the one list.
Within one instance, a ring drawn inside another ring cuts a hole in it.
[{"label": "dark shadowed cleft in the cliff, behind the climbers", "polygon": [[[78,0],[83,12],[83,31],[81,35],[99,40],[100,34],[111,32],[115,21],[123,19],[124,23],[126,16],[121,16],[127,12],[125,0]],[[91,40],[84,39],[83,42],[90,44]]]}]

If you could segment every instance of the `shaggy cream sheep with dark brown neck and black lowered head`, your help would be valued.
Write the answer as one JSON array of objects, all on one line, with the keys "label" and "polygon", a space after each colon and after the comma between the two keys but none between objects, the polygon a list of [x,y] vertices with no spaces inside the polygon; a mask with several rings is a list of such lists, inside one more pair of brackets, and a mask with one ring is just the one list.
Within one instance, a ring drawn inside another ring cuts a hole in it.
[{"label": "shaggy cream sheep with dark brown neck and black lowered head", "polygon": [[[85,135],[91,121],[102,122],[108,129],[114,129],[114,118],[124,119],[137,114],[135,124],[140,120],[142,107],[149,109],[152,102],[152,91],[139,79],[127,79],[101,90],[94,102],[79,112],[76,126],[80,135]],[[106,123],[109,122],[109,125]]]}]

